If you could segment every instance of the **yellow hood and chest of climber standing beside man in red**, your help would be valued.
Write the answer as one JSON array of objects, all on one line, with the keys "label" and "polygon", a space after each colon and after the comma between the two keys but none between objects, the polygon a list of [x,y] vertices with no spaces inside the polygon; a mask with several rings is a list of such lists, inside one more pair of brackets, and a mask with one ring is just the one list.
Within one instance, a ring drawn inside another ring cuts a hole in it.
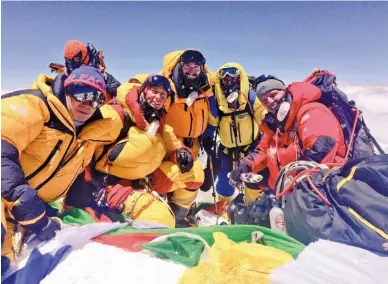
[{"label": "yellow hood and chest of climber standing beside man in red", "polygon": [[[246,109],[247,104],[249,104],[248,98],[249,98],[250,85],[249,85],[248,75],[245,69],[240,64],[235,62],[226,63],[217,70],[216,74],[218,74],[218,72],[221,69],[231,68],[231,67],[237,68],[240,71],[240,95],[238,97],[239,108],[237,110],[233,110],[232,108],[229,108],[226,97],[222,93],[221,80],[218,77],[218,75],[215,75],[216,84],[214,86],[214,92],[217,100],[217,105],[219,110],[225,114],[230,114],[230,113],[233,113],[234,111],[243,111]],[[253,106],[249,106],[249,107],[252,113],[254,113]],[[256,139],[259,132],[259,127],[257,122],[255,122],[255,120],[252,119],[252,116],[248,111],[236,115],[235,121],[236,121],[237,137],[233,131],[233,128],[231,127],[233,123],[232,116],[213,117],[211,114],[209,116],[210,125],[212,126],[219,125],[220,141],[221,141],[221,144],[224,145],[225,147],[233,148],[236,146],[245,146],[245,145],[252,144],[253,140]],[[252,139],[252,129],[254,131],[253,139]]]}]

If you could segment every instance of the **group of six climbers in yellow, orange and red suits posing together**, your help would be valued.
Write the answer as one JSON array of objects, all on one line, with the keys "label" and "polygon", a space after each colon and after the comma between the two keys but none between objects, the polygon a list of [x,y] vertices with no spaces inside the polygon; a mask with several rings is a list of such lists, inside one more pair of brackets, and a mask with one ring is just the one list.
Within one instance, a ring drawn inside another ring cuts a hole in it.
[{"label": "group of six climbers in yellow, orange and red suits posing together", "polygon": [[11,260],[16,233],[55,236],[48,203],[61,198],[65,208],[181,227],[200,188],[230,202],[241,173],[258,172],[249,202],[291,162],[346,158],[341,125],[311,83],[262,75],[251,84],[237,63],[212,73],[199,51],[180,50],[159,74],[120,84],[91,44],[69,41],[64,57],[55,78],[2,96],[2,255]]}]

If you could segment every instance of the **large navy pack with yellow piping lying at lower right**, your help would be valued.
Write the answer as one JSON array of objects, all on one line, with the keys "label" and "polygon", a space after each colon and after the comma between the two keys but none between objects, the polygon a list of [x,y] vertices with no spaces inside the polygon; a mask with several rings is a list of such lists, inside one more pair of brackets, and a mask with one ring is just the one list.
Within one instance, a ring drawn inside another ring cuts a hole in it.
[{"label": "large navy pack with yellow piping lying at lower right", "polygon": [[325,239],[388,256],[387,204],[388,155],[375,155],[297,181],[282,208],[288,235],[305,245]]}]

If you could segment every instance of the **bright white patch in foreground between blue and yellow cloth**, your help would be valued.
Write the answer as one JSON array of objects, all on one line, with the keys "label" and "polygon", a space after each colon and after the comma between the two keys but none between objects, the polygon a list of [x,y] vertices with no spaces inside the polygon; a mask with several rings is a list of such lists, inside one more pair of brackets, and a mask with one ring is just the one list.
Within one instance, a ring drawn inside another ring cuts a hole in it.
[{"label": "bright white patch in foreground between blue and yellow cloth", "polygon": [[178,283],[186,267],[146,253],[90,242],[71,252],[41,284]]}]

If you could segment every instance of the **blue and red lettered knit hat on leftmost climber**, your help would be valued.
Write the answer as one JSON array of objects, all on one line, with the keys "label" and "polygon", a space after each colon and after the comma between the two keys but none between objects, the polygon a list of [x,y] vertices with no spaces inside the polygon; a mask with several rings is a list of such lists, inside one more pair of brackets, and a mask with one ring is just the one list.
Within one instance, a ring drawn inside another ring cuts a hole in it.
[{"label": "blue and red lettered knit hat on leftmost climber", "polygon": [[104,95],[106,93],[104,77],[100,71],[91,66],[81,66],[75,69],[65,80],[64,87],[67,88],[70,85],[86,85],[102,92]]}]

